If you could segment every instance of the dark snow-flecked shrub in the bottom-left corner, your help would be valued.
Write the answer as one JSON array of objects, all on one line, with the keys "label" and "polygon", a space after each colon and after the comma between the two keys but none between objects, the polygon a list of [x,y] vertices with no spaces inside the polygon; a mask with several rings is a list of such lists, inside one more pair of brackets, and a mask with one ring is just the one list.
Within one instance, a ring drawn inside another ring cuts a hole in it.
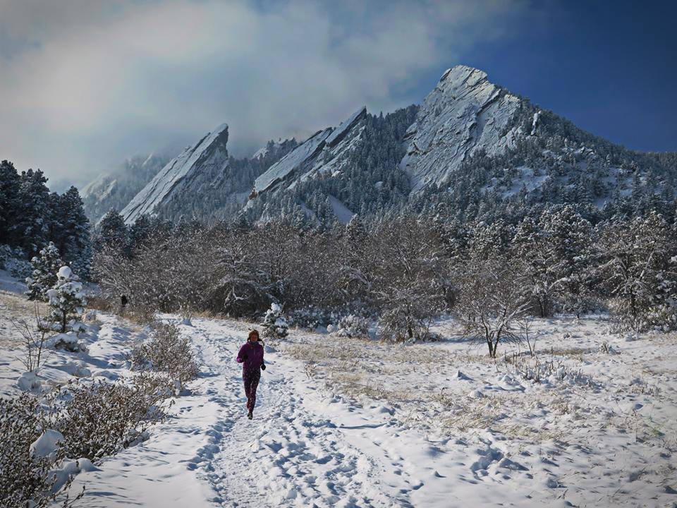
[{"label": "dark snow-flecked shrub in the bottom-left corner", "polygon": [[0,499],[4,508],[51,506],[71,486],[70,476],[57,484],[54,470],[66,456],[66,447],[56,431],[43,431],[42,416],[39,399],[31,394],[0,398]]}]

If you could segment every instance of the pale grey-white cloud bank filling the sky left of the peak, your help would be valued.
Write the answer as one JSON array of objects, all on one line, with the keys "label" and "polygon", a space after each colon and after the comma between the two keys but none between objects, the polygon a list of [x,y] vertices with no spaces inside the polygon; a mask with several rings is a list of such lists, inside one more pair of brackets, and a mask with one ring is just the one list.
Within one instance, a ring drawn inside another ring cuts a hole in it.
[{"label": "pale grey-white cloud bank filling the sky left of the peak", "polygon": [[[0,158],[84,183],[214,126],[247,155],[355,109],[420,102],[423,75],[502,37],[521,1],[0,0]],[[427,88],[433,83],[427,84]]]}]

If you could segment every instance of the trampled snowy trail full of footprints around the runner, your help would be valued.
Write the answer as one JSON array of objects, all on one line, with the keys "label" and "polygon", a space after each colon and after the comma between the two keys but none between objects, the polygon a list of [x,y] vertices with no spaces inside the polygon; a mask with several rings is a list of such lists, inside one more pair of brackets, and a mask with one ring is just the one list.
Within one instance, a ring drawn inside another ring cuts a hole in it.
[{"label": "trampled snowy trail full of footprints around the runner", "polygon": [[203,389],[215,404],[216,422],[188,467],[212,485],[217,505],[410,505],[405,493],[394,498],[372,485],[370,478],[382,469],[379,461],[351,446],[326,416],[304,406],[303,394],[274,358],[262,374],[255,420],[245,418],[240,368],[233,365],[243,334],[209,325],[196,323],[190,334],[208,372]]}]

